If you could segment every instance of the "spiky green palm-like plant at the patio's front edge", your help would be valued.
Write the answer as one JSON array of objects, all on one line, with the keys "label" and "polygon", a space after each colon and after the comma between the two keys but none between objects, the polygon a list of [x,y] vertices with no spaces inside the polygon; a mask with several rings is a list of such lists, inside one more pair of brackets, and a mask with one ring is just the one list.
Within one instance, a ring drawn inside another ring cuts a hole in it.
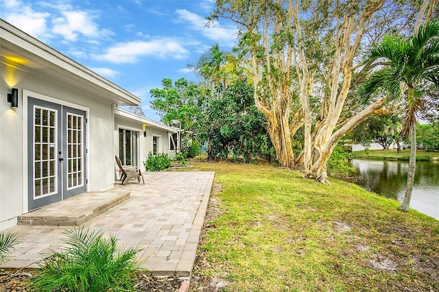
[{"label": "spiky green palm-like plant at the patio's front edge", "polygon": [[141,263],[138,247],[122,250],[114,235],[83,228],[66,232],[62,252],[53,252],[30,280],[35,291],[134,291],[133,280]]}]

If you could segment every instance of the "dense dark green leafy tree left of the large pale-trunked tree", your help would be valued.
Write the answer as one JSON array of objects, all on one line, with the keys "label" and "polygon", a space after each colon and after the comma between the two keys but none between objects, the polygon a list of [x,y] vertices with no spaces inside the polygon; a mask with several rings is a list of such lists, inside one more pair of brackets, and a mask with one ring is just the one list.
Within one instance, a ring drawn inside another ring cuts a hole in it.
[{"label": "dense dark green leafy tree left of the large pale-trunked tree", "polygon": [[206,119],[212,121],[205,133],[209,159],[227,159],[233,153],[235,161],[255,162],[272,149],[265,116],[254,106],[253,86],[245,78],[213,98]]}]

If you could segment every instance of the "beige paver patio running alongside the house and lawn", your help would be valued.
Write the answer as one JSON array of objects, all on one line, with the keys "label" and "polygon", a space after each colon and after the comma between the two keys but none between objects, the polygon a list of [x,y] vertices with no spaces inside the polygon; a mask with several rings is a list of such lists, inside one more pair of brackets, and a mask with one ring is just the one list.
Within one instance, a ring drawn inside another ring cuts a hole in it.
[{"label": "beige paver patio running alongside the house and lawn", "polygon": [[[213,182],[213,172],[144,173],[145,184],[131,180],[111,191],[130,198],[82,226],[115,234],[119,245],[139,245],[143,267],[160,276],[189,276]],[[71,206],[67,204],[65,206]],[[73,207],[71,207],[73,208]],[[68,226],[14,226],[19,238],[0,267],[38,267],[51,250],[60,250]]]}]

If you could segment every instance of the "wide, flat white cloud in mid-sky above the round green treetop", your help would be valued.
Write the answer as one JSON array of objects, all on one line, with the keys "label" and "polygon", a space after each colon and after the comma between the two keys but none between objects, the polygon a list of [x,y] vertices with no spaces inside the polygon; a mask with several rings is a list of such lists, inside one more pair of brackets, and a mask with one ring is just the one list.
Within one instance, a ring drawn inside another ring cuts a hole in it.
[{"label": "wide, flat white cloud in mid-sky above the round green treetop", "polygon": [[189,51],[176,40],[161,38],[150,41],[119,42],[108,48],[104,55],[96,57],[99,60],[123,64],[137,62],[141,56],[181,60],[189,56]]}]

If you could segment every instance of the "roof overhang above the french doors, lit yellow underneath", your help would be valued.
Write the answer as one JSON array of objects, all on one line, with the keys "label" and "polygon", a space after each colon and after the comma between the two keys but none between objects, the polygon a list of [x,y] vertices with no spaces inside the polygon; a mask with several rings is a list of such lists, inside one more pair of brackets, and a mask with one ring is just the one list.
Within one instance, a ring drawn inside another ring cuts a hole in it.
[{"label": "roof overhang above the french doors, lit yellow underneath", "polygon": [[141,99],[0,19],[0,62],[112,104],[134,106]]}]

